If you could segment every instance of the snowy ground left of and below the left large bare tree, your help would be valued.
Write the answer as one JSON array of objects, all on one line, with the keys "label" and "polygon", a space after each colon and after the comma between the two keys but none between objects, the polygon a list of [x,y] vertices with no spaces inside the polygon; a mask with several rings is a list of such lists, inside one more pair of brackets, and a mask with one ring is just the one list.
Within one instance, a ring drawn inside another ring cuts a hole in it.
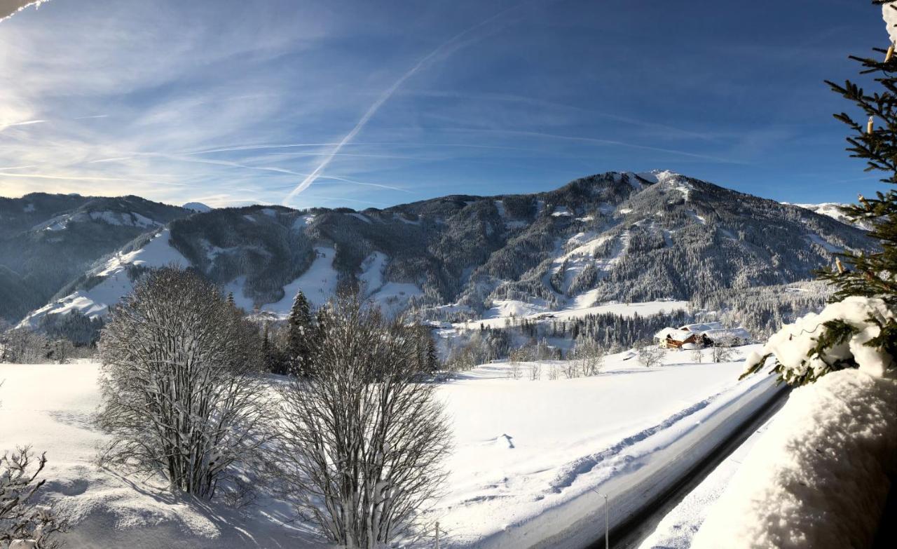
[{"label": "snowy ground left of and below the left large bare tree", "polygon": [[104,435],[91,424],[100,404],[98,366],[0,364],[0,451],[30,444],[47,452],[41,493],[74,525],[77,549],[236,549],[315,547],[302,525],[286,526],[286,507],[263,498],[245,513],[172,496],[141,478],[95,465]]}]

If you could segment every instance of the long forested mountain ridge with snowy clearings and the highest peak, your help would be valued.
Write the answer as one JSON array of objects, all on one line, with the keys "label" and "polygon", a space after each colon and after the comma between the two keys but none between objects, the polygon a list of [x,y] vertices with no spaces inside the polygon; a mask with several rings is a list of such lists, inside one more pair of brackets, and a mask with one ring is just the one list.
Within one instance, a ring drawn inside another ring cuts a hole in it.
[{"label": "long forested mountain ridge with snowy clearings and the highest peak", "polygon": [[[107,220],[109,221],[109,220]],[[444,196],[386,209],[214,209],[171,221],[104,257],[27,318],[101,315],[144,268],[194,266],[244,309],[285,313],[360,285],[382,306],[477,318],[689,300],[812,278],[864,231],[796,205],[669,171],[608,172],[532,195]]]}]

